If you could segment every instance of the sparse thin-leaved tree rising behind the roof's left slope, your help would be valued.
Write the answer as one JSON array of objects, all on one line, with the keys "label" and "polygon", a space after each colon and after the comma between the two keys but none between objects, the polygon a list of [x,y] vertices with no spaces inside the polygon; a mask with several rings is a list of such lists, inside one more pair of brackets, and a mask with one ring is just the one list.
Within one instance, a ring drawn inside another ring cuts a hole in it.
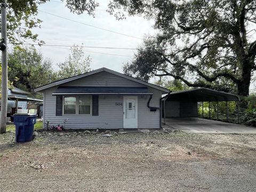
[{"label": "sparse thin-leaved tree rising behind the roof's left slope", "polygon": [[83,47],[71,47],[70,52],[66,61],[58,63],[58,67],[60,68],[58,78],[72,77],[91,70],[90,63],[92,60],[90,56],[84,56]]}]

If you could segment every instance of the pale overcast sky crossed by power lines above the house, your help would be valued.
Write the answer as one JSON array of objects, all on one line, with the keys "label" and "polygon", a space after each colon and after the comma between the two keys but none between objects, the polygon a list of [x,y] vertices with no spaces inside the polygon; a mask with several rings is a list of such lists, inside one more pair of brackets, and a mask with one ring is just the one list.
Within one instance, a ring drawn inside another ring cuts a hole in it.
[{"label": "pale overcast sky crossed by power lines above the house", "polygon": [[[59,0],[51,1],[38,7],[38,18],[43,20],[42,27],[34,29],[33,31],[38,34],[38,38],[45,41],[46,44],[81,45],[83,43],[85,46],[136,48],[142,43],[142,39],[139,38],[143,38],[146,34],[155,33],[155,30],[152,27],[153,21],[148,21],[140,17],[128,17],[126,20],[122,21],[116,20],[114,16],[103,11],[107,9],[108,1],[98,1],[100,2],[100,7],[98,7],[95,12],[95,18],[85,13],[82,15],[70,13],[69,9],[65,7],[65,3],[58,3],[58,1]],[[138,38],[110,33],[81,23],[58,18],[53,15],[43,13],[42,11]],[[29,42],[29,40],[27,42]],[[56,63],[64,61],[69,54],[69,47],[36,47],[40,52],[42,52],[44,57],[50,58],[53,61],[53,67],[55,69]],[[123,63],[130,61],[133,57],[133,53],[135,52],[134,50],[89,48],[84,48],[84,51],[90,51],[85,52],[85,56],[90,55],[92,58],[92,69],[107,67],[119,72],[123,71]],[[124,56],[92,52],[119,54]]]}]

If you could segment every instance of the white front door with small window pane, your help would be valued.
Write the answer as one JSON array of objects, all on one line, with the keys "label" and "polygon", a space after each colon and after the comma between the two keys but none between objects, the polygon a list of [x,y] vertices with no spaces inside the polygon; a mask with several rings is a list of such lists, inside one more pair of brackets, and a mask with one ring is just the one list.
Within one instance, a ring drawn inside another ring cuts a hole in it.
[{"label": "white front door with small window pane", "polygon": [[124,96],[124,128],[138,128],[138,97]]}]

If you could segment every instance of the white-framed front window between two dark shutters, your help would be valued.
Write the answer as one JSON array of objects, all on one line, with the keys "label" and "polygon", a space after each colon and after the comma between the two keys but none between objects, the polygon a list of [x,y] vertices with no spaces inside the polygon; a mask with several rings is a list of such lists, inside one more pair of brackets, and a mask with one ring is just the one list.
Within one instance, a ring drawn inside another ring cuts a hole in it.
[{"label": "white-framed front window between two dark shutters", "polygon": [[64,114],[91,114],[91,96],[64,97]]}]

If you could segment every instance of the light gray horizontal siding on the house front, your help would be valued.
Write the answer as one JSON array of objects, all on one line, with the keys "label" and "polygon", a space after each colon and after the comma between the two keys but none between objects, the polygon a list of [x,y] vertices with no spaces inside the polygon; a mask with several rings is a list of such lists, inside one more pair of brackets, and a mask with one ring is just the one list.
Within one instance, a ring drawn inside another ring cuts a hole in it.
[{"label": "light gray horizontal siding on the house front", "polygon": [[[125,79],[105,71],[83,77],[61,86],[145,86],[129,79]],[[68,118],[66,129],[119,129],[123,127],[123,106],[116,106],[116,102],[123,103],[123,95],[99,95],[99,116],[92,115],[63,115],[55,116],[56,97],[52,93],[58,86],[44,91],[44,122],[52,125],[64,125]],[[162,91],[148,87],[153,93],[150,106],[159,107]],[[147,107],[149,96],[138,95],[138,127],[147,129],[159,128],[159,110],[152,112]]]}]

